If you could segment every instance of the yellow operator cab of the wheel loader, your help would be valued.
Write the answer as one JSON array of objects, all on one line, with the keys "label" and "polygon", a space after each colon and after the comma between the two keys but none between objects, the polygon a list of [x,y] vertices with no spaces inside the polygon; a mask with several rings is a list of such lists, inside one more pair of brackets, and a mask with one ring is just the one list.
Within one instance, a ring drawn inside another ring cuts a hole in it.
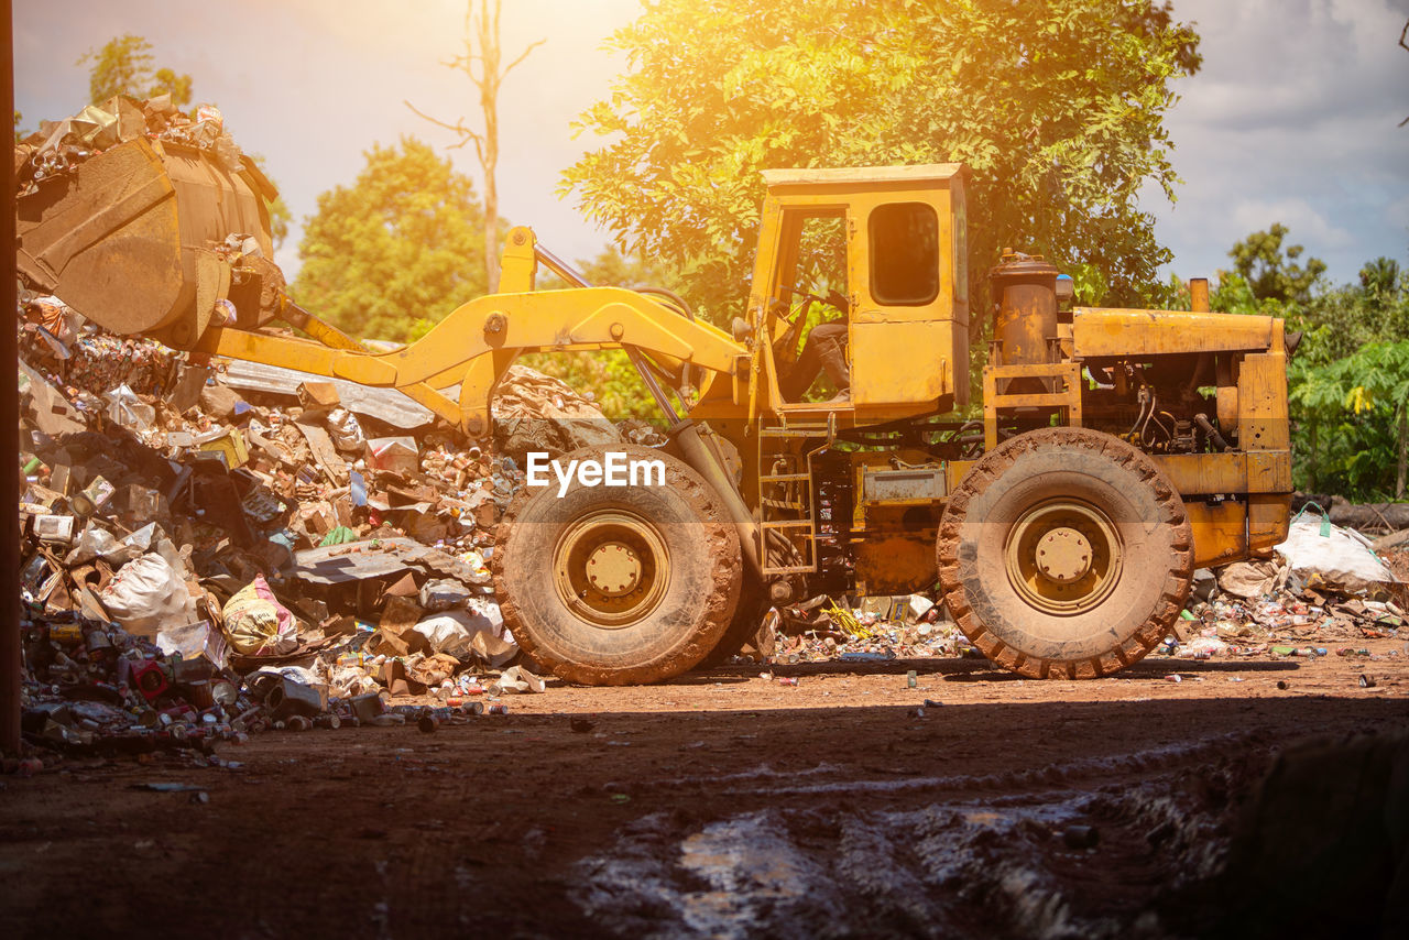
[{"label": "yellow operator cab of the wheel loader", "polygon": [[889,420],[967,403],[962,172],[764,171],[750,326],[779,410]]}]

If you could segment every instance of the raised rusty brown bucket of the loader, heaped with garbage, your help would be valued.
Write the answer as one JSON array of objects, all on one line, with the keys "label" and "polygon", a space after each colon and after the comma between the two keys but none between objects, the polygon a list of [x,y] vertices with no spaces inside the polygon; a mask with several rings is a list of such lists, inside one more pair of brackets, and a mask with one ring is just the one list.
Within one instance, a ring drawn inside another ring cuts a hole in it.
[{"label": "raised rusty brown bucket of the loader, heaped with garbage", "polygon": [[17,266],[111,333],[186,348],[230,287],[213,248],[254,235],[272,258],[272,196],[258,172],[200,148],[130,140],[18,200]]}]

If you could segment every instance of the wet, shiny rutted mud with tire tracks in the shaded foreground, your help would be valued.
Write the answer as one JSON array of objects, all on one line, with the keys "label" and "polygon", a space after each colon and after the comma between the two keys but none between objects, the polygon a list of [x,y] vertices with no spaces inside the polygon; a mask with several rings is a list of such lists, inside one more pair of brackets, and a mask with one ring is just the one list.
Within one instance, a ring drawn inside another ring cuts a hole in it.
[{"label": "wet, shiny rutted mud with tire tracks in the shaded foreground", "polygon": [[710,784],[738,812],[637,819],[578,862],[571,896],[633,937],[1158,936],[1151,902],[1226,854],[1227,793],[1267,758],[1251,738],[989,775],[858,779],[821,764],[793,785],[768,765],[643,781],[630,789]]}]

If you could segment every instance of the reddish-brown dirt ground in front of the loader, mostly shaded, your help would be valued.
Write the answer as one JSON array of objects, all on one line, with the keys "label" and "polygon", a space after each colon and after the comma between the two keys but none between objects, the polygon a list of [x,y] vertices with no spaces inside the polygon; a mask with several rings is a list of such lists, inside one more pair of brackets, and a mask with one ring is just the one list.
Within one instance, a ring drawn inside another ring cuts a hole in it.
[{"label": "reddish-brown dirt ground in front of the loader, mostly shaded", "polygon": [[[20,937],[1229,933],[1215,888],[1257,781],[1308,736],[1409,729],[1406,645],[1153,657],[1093,682],[975,660],[774,667],[796,686],[730,667],[550,684],[430,734],[268,733],[220,746],[217,765],[66,758],[0,779],[0,923]],[[1339,905],[1324,881],[1288,888]]]}]

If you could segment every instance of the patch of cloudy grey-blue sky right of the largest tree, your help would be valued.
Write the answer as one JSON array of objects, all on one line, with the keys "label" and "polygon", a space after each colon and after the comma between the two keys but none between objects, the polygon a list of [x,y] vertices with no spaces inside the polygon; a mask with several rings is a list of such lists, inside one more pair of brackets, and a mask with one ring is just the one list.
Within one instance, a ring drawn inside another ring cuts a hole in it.
[{"label": "patch of cloudy grey-blue sky right of the largest tree", "polygon": [[[1405,0],[1177,0],[1203,37],[1167,127],[1185,183],[1150,199],[1177,272],[1227,266],[1274,221],[1350,280],[1367,258],[1405,255],[1409,54]],[[1148,194],[1153,196],[1153,194]]]}]

